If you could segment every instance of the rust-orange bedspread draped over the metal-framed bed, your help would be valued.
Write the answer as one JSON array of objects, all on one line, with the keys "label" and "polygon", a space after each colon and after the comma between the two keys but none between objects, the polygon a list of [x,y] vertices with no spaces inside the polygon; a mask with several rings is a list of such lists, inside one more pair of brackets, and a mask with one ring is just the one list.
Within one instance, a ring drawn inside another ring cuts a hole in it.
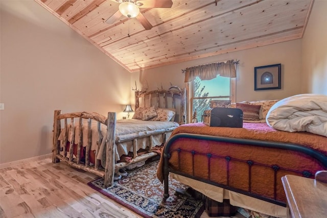
[{"label": "rust-orange bedspread draped over the metal-framed bed", "polygon": [[[312,148],[327,156],[327,137],[307,132],[290,133],[278,131],[270,128],[265,123],[244,123],[243,128],[208,127],[203,123],[186,124],[176,128],[171,136],[178,133],[301,144],[304,147]],[[180,149],[182,152],[178,153],[177,151],[173,151],[177,149]],[[179,138],[173,142],[170,151],[173,152],[171,152],[169,165],[175,170],[244,191],[248,191],[250,186],[252,193],[282,202],[286,202],[286,196],[281,181],[282,176],[286,174],[302,176],[301,173],[298,172],[303,171],[308,171],[314,176],[317,171],[326,170],[316,159],[300,152],[249,146],[246,144]],[[192,155],[191,151],[196,155]],[[206,154],[220,157],[229,156],[232,159],[245,161],[230,161],[227,173],[227,163],[224,158],[211,158],[209,163],[209,158]],[[161,155],[157,171],[157,176],[161,182],[163,181],[163,157],[164,155]],[[246,160],[251,160],[256,163],[251,167],[250,173]],[[271,167],[261,166],[260,164],[278,165],[278,167],[281,168],[276,174],[277,186],[275,197],[273,193],[274,170]],[[284,171],[283,168],[292,169],[295,172]],[[248,182],[249,177],[252,178],[250,184]]]}]

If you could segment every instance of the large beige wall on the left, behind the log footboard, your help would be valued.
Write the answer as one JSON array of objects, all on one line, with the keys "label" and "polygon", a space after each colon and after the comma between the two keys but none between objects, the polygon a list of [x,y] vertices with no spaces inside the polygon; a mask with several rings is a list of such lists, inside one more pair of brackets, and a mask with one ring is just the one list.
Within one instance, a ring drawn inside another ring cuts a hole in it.
[{"label": "large beige wall on the left, behind the log footboard", "polygon": [[50,154],[55,109],[123,111],[127,70],[34,1],[0,2],[0,163]]}]

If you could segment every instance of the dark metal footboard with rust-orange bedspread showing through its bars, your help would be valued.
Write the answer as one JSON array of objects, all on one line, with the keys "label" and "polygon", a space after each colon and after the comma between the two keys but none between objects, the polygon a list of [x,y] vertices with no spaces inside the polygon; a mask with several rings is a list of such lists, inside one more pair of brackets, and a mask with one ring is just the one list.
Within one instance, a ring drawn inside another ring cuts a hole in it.
[{"label": "dark metal footboard with rust-orange bedspread showing through its bars", "polygon": [[[235,150],[228,153],[231,145],[238,146],[243,153],[266,150],[275,154],[275,157],[269,157],[267,161],[265,157],[254,155],[251,158],[243,158],[242,155],[237,155]],[[210,146],[216,146],[215,150],[221,147],[221,155],[219,151],[207,152]],[[285,156],[279,156],[281,152]],[[292,174],[314,178],[317,171],[327,169],[327,156],[314,149],[298,144],[264,140],[179,133],[166,142],[163,154],[165,198],[169,197],[171,172],[285,207],[286,197],[281,177]],[[304,164],[306,166],[290,167],[285,158],[294,155],[299,162],[307,162]],[[256,179],[259,181],[255,181]],[[261,189],[256,187],[259,182],[264,182]]]}]

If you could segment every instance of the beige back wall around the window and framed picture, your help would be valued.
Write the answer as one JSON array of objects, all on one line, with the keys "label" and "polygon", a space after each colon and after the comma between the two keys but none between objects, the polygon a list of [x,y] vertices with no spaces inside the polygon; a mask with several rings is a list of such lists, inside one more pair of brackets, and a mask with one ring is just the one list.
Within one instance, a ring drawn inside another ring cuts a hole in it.
[{"label": "beige back wall around the window and framed picture", "polygon": [[[168,88],[170,82],[184,87],[181,69],[230,59],[240,60],[240,64],[237,65],[237,102],[282,99],[301,91],[301,87],[296,85],[301,83],[300,39],[144,70],[134,74],[131,81],[139,80],[140,86],[147,81],[150,90],[161,87],[161,84]],[[278,63],[282,64],[282,89],[254,91],[254,67]]]}]

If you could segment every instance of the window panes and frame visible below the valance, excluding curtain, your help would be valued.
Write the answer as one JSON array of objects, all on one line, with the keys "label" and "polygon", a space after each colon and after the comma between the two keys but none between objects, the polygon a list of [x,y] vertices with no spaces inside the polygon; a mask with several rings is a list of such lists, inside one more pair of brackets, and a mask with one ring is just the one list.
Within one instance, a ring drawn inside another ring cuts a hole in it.
[{"label": "window panes and frame visible below the valance, excluding curtain", "polygon": [[201,122],[204,110],[209,109],[212,100],[231,100],[235,102],[235,78],[217,76],[211,80],[201,80],[196,77],[190,82],[189,122],[194,111],[197,111],[197,121]]}]

